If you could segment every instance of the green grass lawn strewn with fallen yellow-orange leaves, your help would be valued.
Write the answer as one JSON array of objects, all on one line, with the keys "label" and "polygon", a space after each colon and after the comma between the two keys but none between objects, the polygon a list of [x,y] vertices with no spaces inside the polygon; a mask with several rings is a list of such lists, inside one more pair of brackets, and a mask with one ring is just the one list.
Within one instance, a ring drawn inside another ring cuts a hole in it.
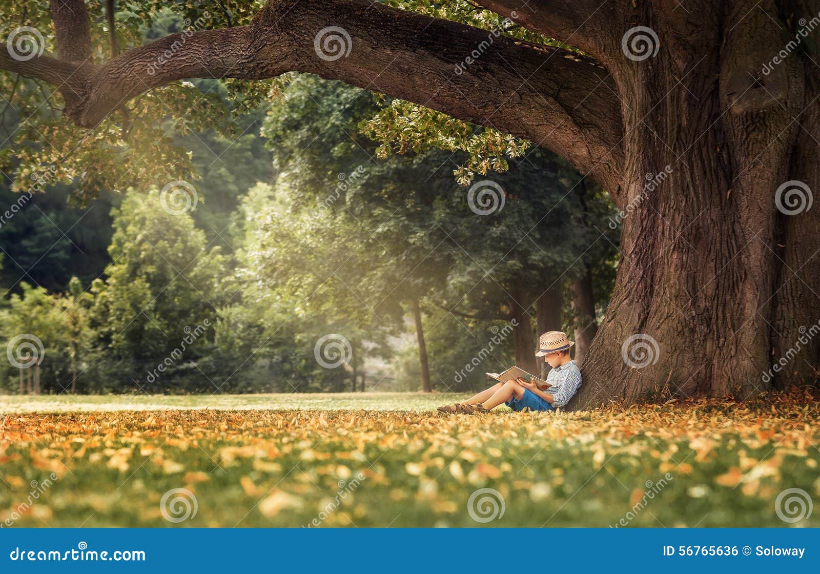
[{"label": "green grass lawn strewn with fallen yellow-orange leaves", "polygon": [[820,526],[817,391],[431,412],[453,400],[0,396],[0,526]]}]

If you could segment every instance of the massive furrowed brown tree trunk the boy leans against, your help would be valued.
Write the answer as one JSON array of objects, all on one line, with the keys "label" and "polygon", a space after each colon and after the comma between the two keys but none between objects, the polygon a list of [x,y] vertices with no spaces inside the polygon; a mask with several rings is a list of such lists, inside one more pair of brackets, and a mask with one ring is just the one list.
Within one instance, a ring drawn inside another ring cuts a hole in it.
[{"label": "massive furrowed brown tree trunk the boy leans against", "polygon": [[[760,74],[791,33],[772,24],[772,2],[759,4],[689,4],[672,18],[636,8],[658,56],[613,66],[633,158],[618,207],[640,207],[623,217],[617,285],[572,406],[638,399],[667,379],[681,396],[769,389],[770,362],[817,321],[806,312],[820,290],[817,210],[784,216],[776,190],[818,189],[818,105],[797,58]],[[817,365],[816,340],[790,368],[805,372],[804,360]]]}]

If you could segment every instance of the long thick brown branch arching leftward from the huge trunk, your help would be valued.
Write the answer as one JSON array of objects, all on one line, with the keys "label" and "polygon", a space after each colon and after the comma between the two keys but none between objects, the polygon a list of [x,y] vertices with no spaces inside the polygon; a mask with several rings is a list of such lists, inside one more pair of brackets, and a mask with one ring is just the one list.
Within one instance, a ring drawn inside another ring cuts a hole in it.
[{"label": "long thick brown branch arching leftward from the huge trunk", "polygon": [[[0,57],[0,66],[52,83],[66,76],[66,65],[52,58],[8,64]],[[59,70],[42,70],[52,65]],[[597,62],[366,0],[270,0],[252,25],[172,34],[103,66],[83,66],[75,71],[84,81],[82,102],[66,112],[92,126],[128,99],[175,80],[263,79],[287,71],[342,80],[531,139],[602,185],[617,186],[620,104]]]}]

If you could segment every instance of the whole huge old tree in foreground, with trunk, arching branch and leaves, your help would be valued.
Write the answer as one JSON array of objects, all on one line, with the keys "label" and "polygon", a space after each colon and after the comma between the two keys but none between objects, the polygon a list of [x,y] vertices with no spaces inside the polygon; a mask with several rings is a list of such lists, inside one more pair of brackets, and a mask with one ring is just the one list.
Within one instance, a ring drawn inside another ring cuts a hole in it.
[{"label": "whole huge old tree in foreground, with trunk, arching branch and leaves", "polygon": [[[43,114],[41,133],[53,133],[66,119],[78,126],[50,148],[21,153],[18,181],[43,162],[109,188],[125,172],[144,172],[141,157],[161,133],[154,121],[159,98],[171,115],[197,107],[202,125],[225,117],[208,114],[209,99],[194,106],[198,91],[178,80],[317,73],[543,144],[629,213],[613,299],[576,403],[633,399],[667,379],[682,394],[748,394],[813,376],[816,340],[773,382],[759,374],[772,349],[785,354],[800,327],[816,321],[810,310],[820,289],[820,239],[817,210],[807,207],[808,190],[820,184],[811,161],[820,141],[820,76],[813,64],[820,26],[804,25],[817,17],[815,2],[695,2],[671,11],[663,2],[547,0],[521,13],[503,0],[481,2],[511,18],[516,26],[505,27],[509,34],[520,26],[558,46],[503,34],[489,43],[477,26],[490,19],[464,16],[449,2],[391,3],[412,11],[364,0],[270,0],[253,14],[252,7],[228,2],[227,11],[208,11],[190,35],[137,45],[142,39],[128,21],[151,20],[155,8],[137,2],[124,18],[120,55],[103,58],[109,51],[93,49],[107,39],[98,7],[91,19],[81,0],[52,2],[50,11],[44,2],[25,2],[25,10],[10,2],[3,21],[53,24],[57,57],[2,53],[0,66],[59,86],[63,115]],[[194,15],[189,2],[177,8]],[[314,48],[328,26],[350,38],[343,57],[321,57]],[[795,43],[800,50],[774,59]],[[162,61],[166,51],[174,57]],[[149,69],[153,62],[158,66]],[[12,76],[4,82],[8,93],[37,92],[14,85]],[[152,91],[160,87],[161,93]],[[239,91],[258,93],[245,84]],[[153,113],[140,113],[147,107]],[[80,128],[95,129],[96,141],[83,139]],[[74,157],[121,168],[76,171],[83,162],[68,166],[64,159],[74,148]],[[101,149],[103,157],[94,157]],[[185,163],[179,149],[167,149]],[[169,165],[158,162],[153,171]],[[663,182],[647,189],[646,175],[654,180],[662,172]],[[792,203],[784,205],[784,198]],[[636,340],[653,351],[646,364],[638,359],[641,368],[622,358]]]}]

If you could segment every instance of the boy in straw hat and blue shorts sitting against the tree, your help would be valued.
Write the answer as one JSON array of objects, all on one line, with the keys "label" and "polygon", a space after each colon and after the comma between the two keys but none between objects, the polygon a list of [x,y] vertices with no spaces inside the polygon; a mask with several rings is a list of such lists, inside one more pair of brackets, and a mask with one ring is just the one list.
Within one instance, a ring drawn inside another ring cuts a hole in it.
[{"label": "boy in straw hat and blue shorts sitting against the tree", "polygon": [[549,411],[563,407],[581,386],[581,371],[569,356],[569,349],[574,344],[559,330],[549,331],[539,337],[538,353],[535,353],[535,356],[543,357],[544,361],[553,367],[547,374],[547,385],[544,389],[540,389],[534,382],[518,377],[516,380],[497,383],[464,403],[439,407],[439,412],[488,412],[501,403],[513,411],[522,411],[525,408],[531,411]]}]

